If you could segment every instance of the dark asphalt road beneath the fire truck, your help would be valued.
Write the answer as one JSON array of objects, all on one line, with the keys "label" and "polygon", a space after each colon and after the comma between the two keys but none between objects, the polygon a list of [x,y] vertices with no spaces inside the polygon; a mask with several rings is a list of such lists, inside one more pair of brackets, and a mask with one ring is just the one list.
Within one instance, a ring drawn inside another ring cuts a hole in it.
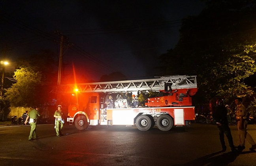
[{"label": "dark asphalt road beneath the fire truck", "polygon": [[[238,144],[236,126],[230,126]],[[28,141],[30,126],[0,126],[1,166],[255,166],[256,152],[220,152],[215,125],[192,123],[163,132],[156,128],[90,126],[79,131],[64,125],[57,137],[54,125],[38,125],[37,140]],[[248,132],[256,140],[256,125]],[[226,143],[228,140],[225,138]]]}]

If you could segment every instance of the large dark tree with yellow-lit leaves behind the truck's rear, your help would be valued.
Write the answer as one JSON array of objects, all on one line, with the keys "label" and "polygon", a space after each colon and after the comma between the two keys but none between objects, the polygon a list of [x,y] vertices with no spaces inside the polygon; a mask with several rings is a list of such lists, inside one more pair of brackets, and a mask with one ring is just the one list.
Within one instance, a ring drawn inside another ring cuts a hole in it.
[{"label": "large dark tree with yellow-lit leaves behind the truck's rear", "polygon": [[200,15],[183,20],[176,47],[160,56],[162,71],[197,75],[196,103],[217,97],[233,102],[237,95],[252,93],[244,79],[256,71],[255,2],[206,2]]}]

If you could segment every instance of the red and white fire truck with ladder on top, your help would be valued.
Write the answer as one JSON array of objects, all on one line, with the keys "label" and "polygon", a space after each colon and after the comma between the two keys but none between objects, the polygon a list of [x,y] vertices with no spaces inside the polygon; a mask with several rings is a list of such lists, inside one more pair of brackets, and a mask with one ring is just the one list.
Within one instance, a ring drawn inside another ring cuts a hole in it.
[{"label": "red and white fire truck with ladder on top", "polygon": [[[189,125],[194,120],[191,96],[197,92],[196,76],[158,76],[144,80],[94,82],[60,85],[70,96],[67,122],[79,130],[89,125],[136,125],[140,131],[156,126],[169,131],[173,126]],[[143,107],[133,108],[118,96],[121,93],[137,94],[161,92],[160,97],[148,98]],[[115,108],[107,108],[109,95],[117,97]]]}]

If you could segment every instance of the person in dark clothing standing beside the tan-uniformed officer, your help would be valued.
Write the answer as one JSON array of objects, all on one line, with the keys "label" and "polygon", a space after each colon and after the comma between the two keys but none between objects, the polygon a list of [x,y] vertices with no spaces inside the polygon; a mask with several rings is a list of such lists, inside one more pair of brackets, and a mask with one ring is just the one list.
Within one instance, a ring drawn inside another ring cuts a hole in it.
[{"label": "person in dark clothing standing beside the tan-uniformed officer", "polygon": [[228,138],[228,143],[232,151],[236,151],[235,145],[233,144],[233,138],[231,135],[230,128],[228,126],[227,109],[224,106],[224,101],[219,99],[216,101],[216,109],[213,111],[213,119],[216,120],[216,124],[219,130],[220,143],[222,145],[222,152],[226,151],[227,147],[224,141],[224,133]]}]

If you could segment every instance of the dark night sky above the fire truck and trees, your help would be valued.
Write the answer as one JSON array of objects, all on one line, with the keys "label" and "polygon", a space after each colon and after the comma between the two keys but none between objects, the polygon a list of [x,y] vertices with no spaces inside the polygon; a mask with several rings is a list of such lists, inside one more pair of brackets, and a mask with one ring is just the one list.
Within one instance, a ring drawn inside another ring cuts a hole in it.
[{"label": "dark night sky above the fire truck and trees", "polygon": [[158,56],[179,39],[182,19],[204,8],[200,0],[1,0],[0,57],[5,47],[12,62],[51,49],[58,60],[58,30],[73,43],[64,49],[65,75],[73,63],[88,80],[115,71],[153,78]]}]

